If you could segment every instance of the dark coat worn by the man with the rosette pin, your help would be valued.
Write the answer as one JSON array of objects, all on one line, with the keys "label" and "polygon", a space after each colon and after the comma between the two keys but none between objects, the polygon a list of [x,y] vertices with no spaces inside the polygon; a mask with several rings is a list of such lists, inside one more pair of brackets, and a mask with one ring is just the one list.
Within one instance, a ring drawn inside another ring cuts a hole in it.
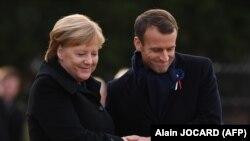
[{"label": "dark coat worn by the man with the rosette pin", "polygon": [[145,94],[138,92],[133,69],[108,83],[106,109],[117,135],[149,136],[151,124],[221,124],[220,96],[210,59],[176,53],[174,67],[185,73],[182,89],[168,95],[160,118],[151,111]]}]

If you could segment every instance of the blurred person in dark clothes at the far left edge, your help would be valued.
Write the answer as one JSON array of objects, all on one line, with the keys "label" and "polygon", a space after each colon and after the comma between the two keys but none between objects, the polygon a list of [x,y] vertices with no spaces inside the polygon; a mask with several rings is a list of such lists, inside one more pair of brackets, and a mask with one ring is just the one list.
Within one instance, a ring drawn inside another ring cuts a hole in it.
[{"label": "blurred person in dark clothes at the far left edge", "polygon": [[24,105],[17,99],[21,77],[14,66],[0,68],[0,141],[22,141],[25,123]]}]

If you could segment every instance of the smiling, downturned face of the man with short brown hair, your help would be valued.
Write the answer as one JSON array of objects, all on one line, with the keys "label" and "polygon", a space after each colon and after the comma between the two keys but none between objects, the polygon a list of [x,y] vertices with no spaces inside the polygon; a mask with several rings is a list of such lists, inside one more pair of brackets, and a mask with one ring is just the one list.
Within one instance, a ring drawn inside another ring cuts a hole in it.
[{"label": "smiling, downturned face of the man with short brown hair", "polygon": [[176,38],[176,30],[170,34],[162,34],[152,26],[144,34],[144,44],[138,37],[134,38],[134,44],[141,52],[146,67],[156,73],[165,73],[175,58]]}]

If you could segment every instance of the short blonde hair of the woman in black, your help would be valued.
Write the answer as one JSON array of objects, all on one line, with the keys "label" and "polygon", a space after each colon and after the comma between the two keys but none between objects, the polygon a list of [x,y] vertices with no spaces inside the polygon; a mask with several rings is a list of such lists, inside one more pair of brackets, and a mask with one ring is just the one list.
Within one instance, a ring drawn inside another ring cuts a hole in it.
[{"label": "short blonde hair of the woman in black", "polygon": [[58,20],[50,32],[49,47],[44,60],[48,62],[57,57],[57,49],[61,45],[79,45],[97,39],[100,48],[105,42],[102,29],[89,17],[81,14],[65,16]]}]

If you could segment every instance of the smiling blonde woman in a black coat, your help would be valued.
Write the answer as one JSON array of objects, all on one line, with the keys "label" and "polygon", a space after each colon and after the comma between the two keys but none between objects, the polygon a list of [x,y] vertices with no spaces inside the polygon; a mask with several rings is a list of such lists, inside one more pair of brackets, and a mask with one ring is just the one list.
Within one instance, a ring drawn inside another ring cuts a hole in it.
[{"label": "smiling blonde woman in a black coat", "polygon": [[80,14],[55,24],[45,61],[28,103],[31,141],[122,141],[100,103],[101,83],[91,73],[105,39],[101,28]]}]

